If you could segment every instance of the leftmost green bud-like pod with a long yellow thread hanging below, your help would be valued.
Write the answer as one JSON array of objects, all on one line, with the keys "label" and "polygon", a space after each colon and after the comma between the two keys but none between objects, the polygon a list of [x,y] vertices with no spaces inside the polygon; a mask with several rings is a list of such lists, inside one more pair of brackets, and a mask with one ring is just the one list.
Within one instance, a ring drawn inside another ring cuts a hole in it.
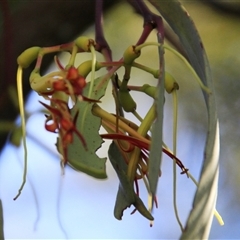
[{"label": "leftmost green bud-like pod with a long yellow thread hanging below", "polygon": [[18,58],[17,63],[22,68],[27,68],[38,57],[40,47],[30,47],[22,52]]}]

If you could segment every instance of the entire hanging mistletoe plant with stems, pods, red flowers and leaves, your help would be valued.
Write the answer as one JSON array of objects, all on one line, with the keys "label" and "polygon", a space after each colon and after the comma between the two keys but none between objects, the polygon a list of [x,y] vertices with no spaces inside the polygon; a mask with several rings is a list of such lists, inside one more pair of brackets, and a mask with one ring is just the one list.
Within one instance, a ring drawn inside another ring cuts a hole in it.
[{"label": "entire hanging mistletoe plant with stems, pods, red flowers and leaves", "polygon": [[[45,128],[57,135],[56,147],[60,155],[62,171],[64,171],[64,166],[68,164],[76,171],[84,172],[95,178],[106,178],[106,158],[99,158],[96,151],[101,148],[103,140],[112,140],[108,157],[120,181],[114,216],[121,219],[123,211],[134,205],[134,212],[139,211],[151,221],[152,225],[154,220],[152,209],[154,204],[157,206],[156,189],[161,175],[161,155],[163,152],[173,161],[173,202],[176,219],[183,231],[182,238],[205,238],[208,236],[213,213],[223,224],[221,217],[215,210],[218,124],[208,62],[200,38],[183,7],[173,0],[149,0],[149,2],[157,8],[161,15],[152,13],[144,1],[131,1],[131,4],[143,17],[143,31],[139,40],[130,45],[123,52],[122,58],[117,61],[112,59],[111,49],[103,34],[101,25],[102,1],[96,1],[95,39],[80,36],[70,43],[58,46],[34,46],[25,50],[18,57],[17,85],[25,149],[25,168],[22,185],[14,199],[17,199],[21,194],[27,175],[22,71],[36,61],[29,82],[31,88],[46,100],[46,102],[40,101],[48,112]],[[175,44],[176,49],[164,43],[163,18],[179,37],[180,45]],[[157,41],[148,42],[147,38],[153,30],[156,30]],[[148,46],[155,46],[158,50],[159,67],[157,69],[140,63],[141,52],[147,51]],[[177,91],[179,85],[175,78],[165,71],[165,51],[171,51],[188,66],[203,90],[206,101],[209,128],[199,184],[177,157]],[[54,60],[58,71],[42,75],[41,64],[44,56],[60,52],[70,54],[68,63],[63,66],[58,57],[55,56]],[[89,52],[92,59],[83,61],[79,66],[76,66],[76,56],[81,56],[83,52]],[[98,61],[96,52],[101,53],[105,61]],[[97,76],[97,71],[102,68],[106,70],[106,73]],[[124,69],[122,76],[118,74],[120,68]],[[149,73],[150,77],[157,80],[157,85],[151,86],[148,83],[142,86],[135,85],[131,81],[132,68],[138,69],[139,73],[141,71]],[[114,114],[104,110],[101,104],[101,98],[105,95],[109,84],[112,86],[112,104],[115,105],[116,109]],[[132,91],[147,94],[154,100],[143,117],[137,113],[137,104],[131,96]],[[164,144],[162,137],[165,93],[172,95],[174,103],[172,150]],[[124,112],[130,112],[136,116],[141,122],[140,125],[138,126],[127,119]],[[99,133],[100,126],[106,130],[106,133]],[[176,166],[181,169],[182,174],[192,179],[198,186],[186,228],[181,224],[176,205]],[[144,181],[148,192],[148,206],[145,206],[140,198],[138,186],[140,180]],[[199,221],[201,229],[197,227]]]}]

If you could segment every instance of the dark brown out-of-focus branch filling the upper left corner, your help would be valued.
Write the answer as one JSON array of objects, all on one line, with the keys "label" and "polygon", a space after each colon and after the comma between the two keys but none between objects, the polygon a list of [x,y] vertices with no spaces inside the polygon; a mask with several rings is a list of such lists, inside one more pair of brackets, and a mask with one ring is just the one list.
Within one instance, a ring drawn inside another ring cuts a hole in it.
[{"label": "dark brown out-of-focus branch filling the upper left corner", "polygon": [[[14,108],[7,89],[16,84],[16,58],[31,46],[52,46],[73,40],[94,23],[95,1],[22,1],[8,13],[9,2],[1,1],[2,25],[0,35],[0,120],[12,121],[18,110]],[[104,10],[118,0],[105,0]],[[46,56],[46,68],[52,58]],[[31,67],[24,71],[24,96],[30,91],[28,76]],[[7,133],[0,133],[0,151]]]}]

